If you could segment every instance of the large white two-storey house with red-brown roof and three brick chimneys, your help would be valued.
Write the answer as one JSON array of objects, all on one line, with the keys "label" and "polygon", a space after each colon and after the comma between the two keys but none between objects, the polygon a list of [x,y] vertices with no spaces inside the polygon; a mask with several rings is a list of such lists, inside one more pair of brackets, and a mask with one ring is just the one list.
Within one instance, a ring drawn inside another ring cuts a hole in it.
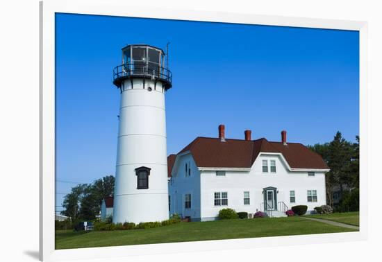
[{"label": "large white two-storey house with red-brown roof and three brick chimneys", "polygon": [[215,220],[220,209],[285,216],[292,206],[308,212],[326,204],[325,173],[321,156],[301,143],[265,138],[226,139],[197,137],[176,155],[169,155],[169,213],[194,221]]}]

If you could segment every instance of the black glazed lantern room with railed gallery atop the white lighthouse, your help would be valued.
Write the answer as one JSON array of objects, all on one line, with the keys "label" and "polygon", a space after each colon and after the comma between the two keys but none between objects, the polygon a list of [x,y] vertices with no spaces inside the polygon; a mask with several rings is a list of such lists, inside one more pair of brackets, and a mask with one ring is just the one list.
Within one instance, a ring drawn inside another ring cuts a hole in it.
[{"label": "black glazed lantern room with railed gallery atop the white lighthouse", "polygon": [[172,87],[172,73],[167,69],[165,52],[148,44],[129,44],[122,49],[122,64],[113,71],[114,85],[126,79],[145,78],[160,81],[165,90]]}]

